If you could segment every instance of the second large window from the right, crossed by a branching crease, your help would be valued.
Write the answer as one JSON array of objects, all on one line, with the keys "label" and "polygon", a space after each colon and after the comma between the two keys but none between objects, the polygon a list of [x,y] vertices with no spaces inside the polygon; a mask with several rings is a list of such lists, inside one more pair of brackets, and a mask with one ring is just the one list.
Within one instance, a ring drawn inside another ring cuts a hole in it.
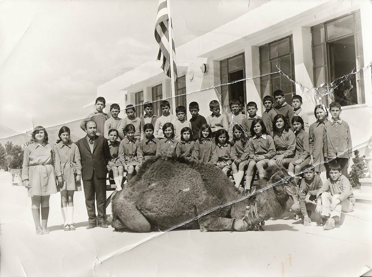
[{"label": "second large window from the right, crossed by a branching crease", "polygon": [[[296,94],[292,35],[260,46],[261,96],[273,95],[275,90],[282,90],[287,102]],[[279,69],[285,74],[274,73]],[[270,74],[273,73],[273,74]],[[267,75],[266,75],[267,74]],[[287,76],[288,77],[287,77]]]}]

